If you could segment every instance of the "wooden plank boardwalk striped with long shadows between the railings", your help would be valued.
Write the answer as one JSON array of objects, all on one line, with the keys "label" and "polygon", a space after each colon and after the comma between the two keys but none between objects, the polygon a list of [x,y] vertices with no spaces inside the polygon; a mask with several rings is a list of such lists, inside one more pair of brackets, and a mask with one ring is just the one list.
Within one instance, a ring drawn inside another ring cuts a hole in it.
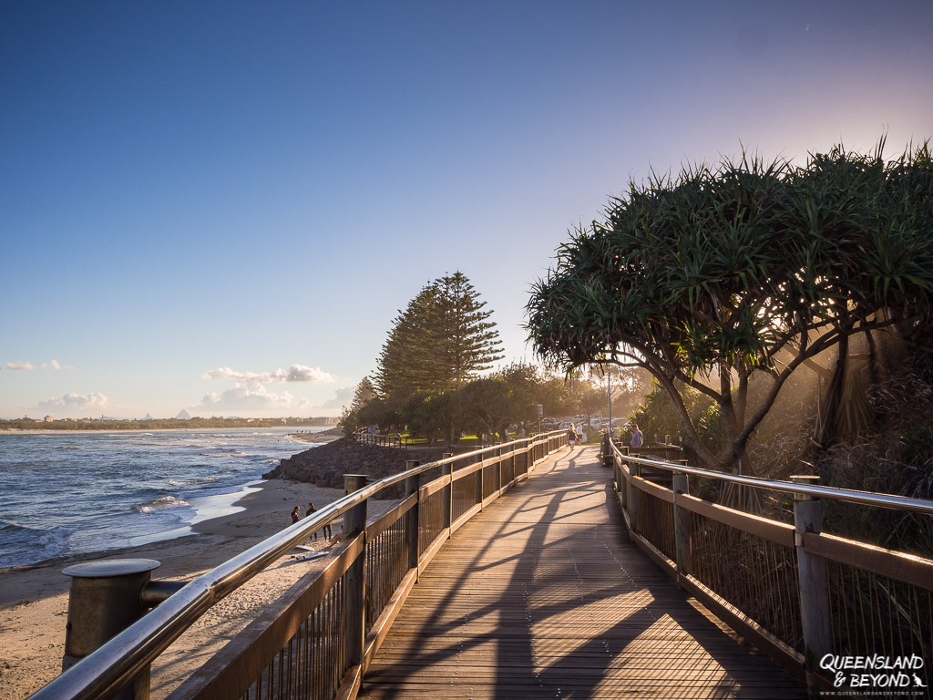
[{"label": "wooden plank boardwalk striped with long shadows between the railings", "polygon": [[796,698],[625,534],[595,447],[562,451],[422,574],[361,698]]}]

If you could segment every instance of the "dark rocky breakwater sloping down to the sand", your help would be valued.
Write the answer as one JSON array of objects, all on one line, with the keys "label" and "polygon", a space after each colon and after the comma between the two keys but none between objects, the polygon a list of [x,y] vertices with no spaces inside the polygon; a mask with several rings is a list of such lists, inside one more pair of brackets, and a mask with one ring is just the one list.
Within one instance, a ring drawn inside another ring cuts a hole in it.
[{"label": "dark rocky breakwater sloping down to the sand", "polygon": [[[434,454],[434,453],[437,454]],[[363,445],[349,440],[338,440],[313,447],[283,459],[279,466],[263,474],[263,479],[288,479],[295,482],[313,483],[325,488],[343,488],[344,474],[366,474],[369,479],[382,479],[405,470],[406,459],[418,459],[422,463],[439,459],[441,450],[418,450],[406,452],[391,447]],[[432,470],[433,471],[433,470]],[[426,478],[425,478],[426,477]],[[425,474],[422,483],[432,475]],[[393,486],[383,492],[383,498],[402,497],[404,484]]]}]

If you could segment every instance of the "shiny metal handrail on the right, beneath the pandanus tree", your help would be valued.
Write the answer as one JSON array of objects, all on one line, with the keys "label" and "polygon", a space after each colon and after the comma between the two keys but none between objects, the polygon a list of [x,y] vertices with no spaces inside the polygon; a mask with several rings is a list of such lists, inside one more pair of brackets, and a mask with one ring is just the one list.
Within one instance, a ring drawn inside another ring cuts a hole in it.
[{"label": "shiny metal handrail on the right, beneath the pandanus tree", "polygon": [[871,491],[856,491],[854,489],[837,488],[835,486],[811,486],[805,483],[792,483],[773,481],[770,479],[759,479],[753,476],[740,476],[739,474],[727,474],[722,471],[711,471],[709,469],[696,469],[684,465],[672,464],[670,462],[661,462],[657,459],[647,459],[634,455],[624,455],[619,447],[612,444],[612,450],[615,455],[623,462],[634,462],[644,464],[648,467],[666,469],[667,471],[680,471],[685,474],[702,476],[707,479],[717,479],[724,482],[741,483],[745,486],[755,488],[766,488],[773,491],[785,491],[792,494],[801,494],[804,496],[814,496],[823,498],[833,498],[849,503],[859,503],[866,506],[877,506],[879,508],[891,508],[897,511],[913,511],[933,515],[933,500],[924,498],[912,498],[907,496],[894,496],[892,494],[878,494]]}]

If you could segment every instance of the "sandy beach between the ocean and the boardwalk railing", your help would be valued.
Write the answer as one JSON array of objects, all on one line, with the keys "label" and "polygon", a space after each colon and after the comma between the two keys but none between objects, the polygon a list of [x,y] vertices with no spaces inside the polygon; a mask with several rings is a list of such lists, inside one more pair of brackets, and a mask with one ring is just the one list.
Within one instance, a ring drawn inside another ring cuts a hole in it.
[{"label": "sandy beach between the ocean and the boardwalk railing", "polygon": [[[193,525],[195,535],[33,567],[0,569],[0,700],[21,700],[61,672],[70,581],[62,574],[64,567],[78,561],[145,557],[161,562],[153,579],[189,581],[289,525],[295,506],[303,515],[309,502],[320,508],[342,495],[339,489],[311,483],[270,480],[236,502],[244,511]],[[390,505],[389,501],[370,503],[370,517]],[[333,534],[339,532],[337,525]],[[314,549],[328,547],[323,536],[308,544]],[[323,566],[323,561],[326,558],[299,562],[285,555],[220,601],[153,665],[152,697],[174,690],[258,610],[313,567]]]}]

